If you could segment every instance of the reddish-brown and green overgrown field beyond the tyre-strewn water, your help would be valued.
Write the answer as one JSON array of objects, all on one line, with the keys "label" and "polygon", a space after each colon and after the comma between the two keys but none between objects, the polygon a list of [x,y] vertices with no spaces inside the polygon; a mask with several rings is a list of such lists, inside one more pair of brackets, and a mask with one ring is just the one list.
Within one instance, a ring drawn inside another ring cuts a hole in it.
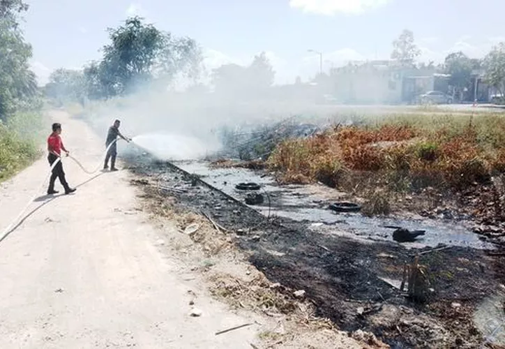
[{"label": "reddish-brown and green overgrown field beyond the tyre-strewn water", "polygon": [[337,126],[282,142],[268,166],[285,183],[344,186],[366,179],[394,191],[465,188],[505,171],[505,117],[405,114]]}]

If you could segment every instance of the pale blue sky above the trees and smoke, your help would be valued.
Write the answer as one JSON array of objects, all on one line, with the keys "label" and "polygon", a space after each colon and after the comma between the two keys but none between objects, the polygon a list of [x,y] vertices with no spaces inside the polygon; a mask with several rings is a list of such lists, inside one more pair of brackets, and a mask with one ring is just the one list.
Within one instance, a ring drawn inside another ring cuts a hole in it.
[{"label": "pale blue sky above the trees and smoke", "polygon": [[349,60],[386,59],[402,29],[414,32],[422,61],[462,50],[483,57],[505,40],[503,0],[27,0],[24,31],[40,82],[61,66],[100,57],[107,27],[141,15],[159,29],[195,38],[208,68],[248,64],[266,51],[277,83]]}]

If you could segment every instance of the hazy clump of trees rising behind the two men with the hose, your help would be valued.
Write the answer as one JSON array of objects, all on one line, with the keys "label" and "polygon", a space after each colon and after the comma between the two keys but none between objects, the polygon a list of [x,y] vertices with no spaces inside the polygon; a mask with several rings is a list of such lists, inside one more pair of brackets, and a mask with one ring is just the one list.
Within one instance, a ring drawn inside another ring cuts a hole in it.
[{"label": "hazy clump of trees rising behind the two men with the hose", "polygon": [[[107,31],[110,42],[103,46],[103,57],[79,73],[56,70],[47,93],[110,98],[133,93],[156,80],[168,84],[177,75],[194,78],[199,74],[202,52],[191,38],[176,38],[138,16]],[[72,89],[77,90],[70,93]]]}]

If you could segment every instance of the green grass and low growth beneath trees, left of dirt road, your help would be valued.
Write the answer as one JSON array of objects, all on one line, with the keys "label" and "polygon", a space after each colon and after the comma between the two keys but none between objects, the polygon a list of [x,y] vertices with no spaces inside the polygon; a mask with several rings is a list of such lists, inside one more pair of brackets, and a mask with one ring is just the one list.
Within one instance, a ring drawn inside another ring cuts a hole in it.
[{"label": "green grass and low growth beneath trees, left of dirt road", "polygon": [[37,112],[24,112],[0,123],[0,181],[33,163],[41,154],[43,118]]}]

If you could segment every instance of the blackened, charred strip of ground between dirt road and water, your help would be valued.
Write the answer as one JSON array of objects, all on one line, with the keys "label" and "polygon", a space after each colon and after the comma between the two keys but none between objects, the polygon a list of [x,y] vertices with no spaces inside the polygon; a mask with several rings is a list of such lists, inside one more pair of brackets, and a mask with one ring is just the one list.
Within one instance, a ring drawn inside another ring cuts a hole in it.
[{"label": "blackened, charred strip of ground between dirt road and water", "polygon": [[305,290],[318,315],[342,330],[373,332],[391,348],[476,348],[488,335],[473,314],[503,287],[505,253],[451,247],[421,255],[432,290],[415,304],[379,277],[401,280],[420,250],[313,232],[309,223],[259,214],[170,163],[144,156],[135,165],[130,170],[156,178],[179,207],[204,211],[234,232],[252,265],[273,283]]}]

